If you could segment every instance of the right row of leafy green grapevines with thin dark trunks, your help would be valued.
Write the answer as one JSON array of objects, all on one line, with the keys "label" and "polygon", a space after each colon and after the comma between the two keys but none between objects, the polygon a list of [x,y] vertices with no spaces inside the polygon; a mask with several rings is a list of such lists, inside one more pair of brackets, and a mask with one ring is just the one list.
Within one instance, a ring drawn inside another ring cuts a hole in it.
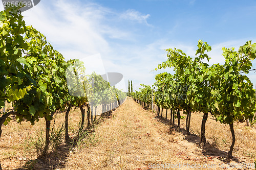
[{"label": "right row of leafy green grapevines with thin dark trunks", "polygon": [[210,57],[206,52],[211,51],[207,42],[198,41],[197,57],[187,56],[177,48],[167,49],[167,60],[158,65],[155,70],[173,67],[175,74],[162,72],[156,76],[156,82],[151,87],[143,85],[140,91],[132,93],[134,100],[143,106],[157,105],[157,116],[170,109],[170,123],[178,120],[180,128],[181,110],[186,117],[186,132],[189,134],[191,112],[202,112],[200,133],[201,145],[206,143],[205,126],[210,113],[216,121],[228,124],[232,134],[232,143],[227,159],[232,159],[233,147],[236,142],[233,124],[250,124],[256,122],[256,93],[253,84],[245,75],[251,70],[251,61],[256,58],[256,43],[247,41],[240,46],[238,52],[234,48],[222,48],[225,64],[209,66],[202,62]]}]

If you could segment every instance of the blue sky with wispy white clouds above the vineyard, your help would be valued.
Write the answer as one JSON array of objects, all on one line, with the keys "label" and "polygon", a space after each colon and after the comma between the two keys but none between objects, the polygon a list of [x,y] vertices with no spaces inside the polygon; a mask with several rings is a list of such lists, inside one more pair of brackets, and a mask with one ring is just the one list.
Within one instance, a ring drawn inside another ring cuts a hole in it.
[{"label": "blue sky with wispy white clouds above the vineyard", "polygon": [[[41,0],[22,14],[66,60],[83,60],[88,72],[121,73],[125,90],[128,80],[139,90],[139,84],[154,84],[160,72],[173,72],[153,71],[166,61],[167,48],[195,57],[201,39],[212,46],[212,65],[224,64],[223,46],[238,50],[256,42],[255,0]],[[256,72],[248,77],[255,87]]]}]

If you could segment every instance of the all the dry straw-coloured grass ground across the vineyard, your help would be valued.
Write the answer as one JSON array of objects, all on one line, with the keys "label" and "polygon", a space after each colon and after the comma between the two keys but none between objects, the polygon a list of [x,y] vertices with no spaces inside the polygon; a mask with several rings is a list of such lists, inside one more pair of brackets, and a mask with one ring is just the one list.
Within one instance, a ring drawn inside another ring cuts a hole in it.
[{"label": "all the dry straw-coloured grass ground across the vineyard", "polygon": [[[56,127],[64,122],[63,114],[57,114]],[[80,121],[80,110],[72,109],[70,114],[70,135],[74,136]],[[169,111],[167,115],[169,119]],[[209,115],[206,124],[209,144],[201,147],[198,144],[201,113],[191,115],[192,135],[185,133],[185,119],[181,120],[181,129],[176,131],[155,116],[155,113],[128,98],[112,113],[111,118],[104,119],[95,126],[93,133],[78,140],[76,148],[70,150],[69,146],[62,145],[57,150],[53,149],[48,158],[37,158],[33,144],[38,141],[41,132],[44,136],[44,121],[40,120],[34,126],[27,122],[22,125],[11,122],[3,127],[0,161],[3,169],[18,169],[25,167],[25,163],[30,164],[31,169],[54,169],[53,165],[59,169],[148,169],[150,163],[217,164],[217,169],[219,164],[224,163],[227,167],[222,157],[226,156],[231,143],[228,126],[216,122]],[[234,126],[237,141],[233,156],[236,159],[231,163],[252,163],[255,159],[256,131],[254,127],[246,128],[244,125]],[[189,168],[184,166],[182,169]]]}]

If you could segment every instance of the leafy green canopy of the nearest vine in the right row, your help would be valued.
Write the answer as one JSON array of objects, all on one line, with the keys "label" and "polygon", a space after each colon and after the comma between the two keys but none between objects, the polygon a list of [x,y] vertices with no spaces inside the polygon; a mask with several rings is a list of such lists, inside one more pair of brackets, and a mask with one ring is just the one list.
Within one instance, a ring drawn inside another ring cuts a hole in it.
[{"label": "leafy green canopy of the nearest vine in the right row", "polygon": [[[256,43],[250,41],[234,48],[223,47],[224,65],[214,65],[212,99],[215,101],[212,111],[221,123],[231,124],[234,121],[244,122],[253,119],[255,108],[255,89],[249,78],[242,74],[248,73],[251,61],[255,59]],[[217,81],[218,80],[218,81]]]}]

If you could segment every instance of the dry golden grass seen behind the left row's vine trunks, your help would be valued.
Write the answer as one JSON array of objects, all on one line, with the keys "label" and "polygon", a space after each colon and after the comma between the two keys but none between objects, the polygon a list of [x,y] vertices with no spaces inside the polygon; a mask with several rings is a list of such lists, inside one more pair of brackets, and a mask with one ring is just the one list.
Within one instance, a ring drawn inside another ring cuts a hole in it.
[{"label": "dry golden grass seen behind the left row's vine trunks", "polygon": [[[80,121],[80,110],[72,109],[69,118],[69,134],[75,135],[77,126]],[[65,123],[65,113],[58,113],[54,116],[55,129]],[[51,121],[51,126],[54,120]],[[29,122],[22,122],[20,124],[11,122],[7,126],[2,127],[3,133],[0,138],[0,162],[3,169],[14,169],[28,165],[28,167],[38,167],[40,169],[40,160],[37,159],[37,151],[35,145],[41,143],[41,147],[44,147],[45,139],[45,120],[41,118],[35,125],[31,125]],[[41,139],[41,141],[40,141]],[[36,144],[37,143],[37,144]],[[63,144],[63,140],[60,141]],[[50,152],[53,152],[54,148],[51,147]],[[60,151],[61,152],[61,151]],[[62,160],[58,160],[62,161]],[[52,164],[55,162],[52,161]],[[51,163],[50,163],[51,164]],[[51,166],[51,165],[50,165]]]}]

